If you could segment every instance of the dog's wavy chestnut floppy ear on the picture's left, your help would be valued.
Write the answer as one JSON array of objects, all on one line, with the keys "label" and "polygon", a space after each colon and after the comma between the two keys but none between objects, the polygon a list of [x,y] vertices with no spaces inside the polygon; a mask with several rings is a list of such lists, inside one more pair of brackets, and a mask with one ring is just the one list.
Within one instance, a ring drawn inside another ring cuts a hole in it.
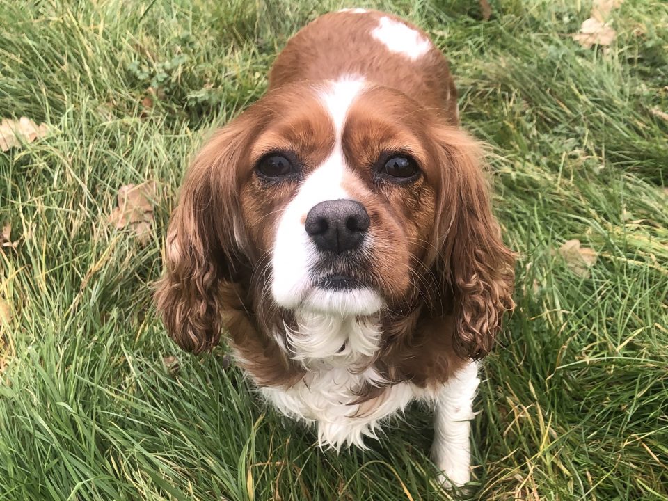
[{"label": "dog's wavy chestnut floppy ear on the picture's left", "polygon": [[196,155],[167,232],[157,308],[170,337],[195,353],[218,343],[218,287],[244,266],[237,176],[251,134],[244,122],[241,116],[219,129]]}]

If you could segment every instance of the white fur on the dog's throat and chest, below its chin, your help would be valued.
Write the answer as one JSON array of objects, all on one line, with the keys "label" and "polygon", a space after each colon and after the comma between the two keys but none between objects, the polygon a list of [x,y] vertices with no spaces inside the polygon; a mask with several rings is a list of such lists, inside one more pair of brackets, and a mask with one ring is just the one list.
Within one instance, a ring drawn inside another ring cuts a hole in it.
[{"label": "white fur on the dog's throat and chest, below its chin", "polygon": [[379,386],[383,377],[369,360],[378,348],[380,328],[370,318],[296,312],[297,327],[286,327],[287,349],[306,374],[290,388],[260,388],[271,404],[289,417],[315,424],[321,447],[364,447],[379,422],[404,408],[424,390],[411,383],[385,388],[381,395],[356,404],[364,385]]}]

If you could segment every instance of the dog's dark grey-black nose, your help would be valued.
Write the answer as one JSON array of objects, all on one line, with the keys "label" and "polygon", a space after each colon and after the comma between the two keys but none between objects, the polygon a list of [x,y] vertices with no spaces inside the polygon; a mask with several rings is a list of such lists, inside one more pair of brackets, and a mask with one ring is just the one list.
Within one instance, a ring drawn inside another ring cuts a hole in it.
[{"label": "dog's dark grey-black nose", "polygon": [[304,228],[321,250],[340,254],[360,245],[370,223],[362,204],[354,200],[327,200],[310,209]]}]

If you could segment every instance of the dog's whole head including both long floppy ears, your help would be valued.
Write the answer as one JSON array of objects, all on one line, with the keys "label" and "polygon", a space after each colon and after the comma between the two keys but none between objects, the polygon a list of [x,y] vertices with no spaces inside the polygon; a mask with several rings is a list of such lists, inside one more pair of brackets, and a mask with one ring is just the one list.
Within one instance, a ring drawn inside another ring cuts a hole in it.
[{"label": "dog's whole head including both long floppy ears", "polygon": [[280,312],[278,324],[452,314],[456,352],[484,356],[512,308],[513,255],[481,159],[470,136],[397,90],[355,78],[271,90],[186,175],[158,291],[170,335],[212,347],[221,287],[237,283],[249,315]]}]

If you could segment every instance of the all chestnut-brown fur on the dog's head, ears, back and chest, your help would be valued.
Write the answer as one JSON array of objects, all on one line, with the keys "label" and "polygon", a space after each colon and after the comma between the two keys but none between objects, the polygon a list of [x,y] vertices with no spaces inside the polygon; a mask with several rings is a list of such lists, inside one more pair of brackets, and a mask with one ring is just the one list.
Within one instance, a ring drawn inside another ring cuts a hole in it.
[{"label": "all chestnut-brown fur on the dog's head, ears, back and chest", "polygon": [[[199,353],[226,328],[260,385],[303,376],[273,337],[292,315],[267,285],[278,216],[299,182],[267,184],[253,166],[290,150],[308,175],[327,157],[333,125],[317,99],[327,79],[358,74],[370,84],[349,110],[342,146],[346,187],[365,205],[374,241],[368,269],[353,272],[365,273],[388,304],[376,370],[390,383],[442,383],[490,351],[513,308],[514,254],[491,214],[480,148],[456,128],[447,61],[435,47],[416,61],[388,51],[369,35],[381,15],[332,13],[297,33],[273,65],[269,93],[193,161],[172,215],[157,291],[168,332]],[[379,155],[394,151],[410,153],[422,177],[408,186],[374,182]],[[360,401],[381,393],[361,388]]]}]

